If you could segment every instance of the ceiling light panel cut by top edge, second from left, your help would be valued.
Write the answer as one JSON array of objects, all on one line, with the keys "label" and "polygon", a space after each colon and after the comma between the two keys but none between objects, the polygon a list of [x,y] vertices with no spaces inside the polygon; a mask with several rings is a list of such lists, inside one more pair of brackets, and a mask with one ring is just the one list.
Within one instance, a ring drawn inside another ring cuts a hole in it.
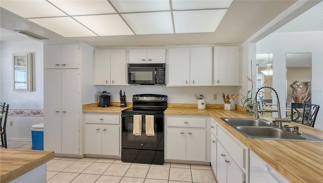
[{"label": "ceiling light panel cut by top edge, second from left", "polygon": [[74,15],[95,15],[116,13],[115,9],[106,0],[95,1],[50,1],[65,13]]}]

